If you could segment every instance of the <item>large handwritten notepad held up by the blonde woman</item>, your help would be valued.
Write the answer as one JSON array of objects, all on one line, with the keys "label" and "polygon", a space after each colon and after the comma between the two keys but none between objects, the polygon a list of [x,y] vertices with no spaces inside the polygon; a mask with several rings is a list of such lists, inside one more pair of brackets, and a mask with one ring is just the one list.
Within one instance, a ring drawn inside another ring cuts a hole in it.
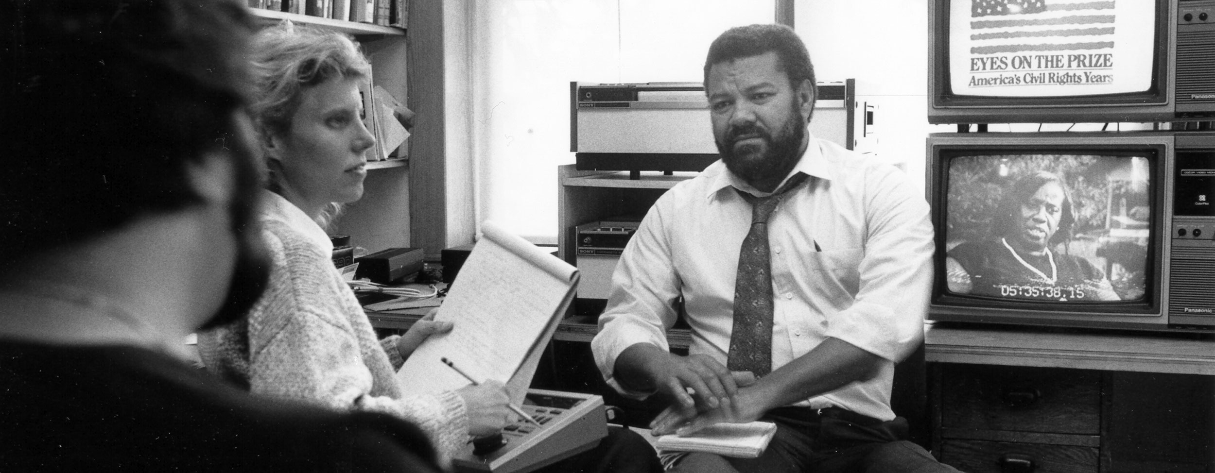
[{"label": "large handwritten notepad held up by the blonde woman", "polygon": [[484,222],[481,233],[435,315],[454,327],[426,338],[396,374],[406,394],[468,386],[446,358],[477,382],[505,383],[512,403],[522,403],[573,300],[577,268],[493,222]]}]

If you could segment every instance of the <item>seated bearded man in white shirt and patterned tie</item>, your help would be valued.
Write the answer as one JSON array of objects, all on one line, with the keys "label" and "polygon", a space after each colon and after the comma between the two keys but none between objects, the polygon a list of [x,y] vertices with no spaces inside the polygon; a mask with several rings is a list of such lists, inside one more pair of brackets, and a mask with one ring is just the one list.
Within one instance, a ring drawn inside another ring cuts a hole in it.
[{"label": "seated bearded man in white shirt and patterned tie", "polygon": [[[722,160],[667,192],[633,235],[597,364],[625,394],[672,399],[654,434],[778,424],[758,458],[691,454],[682,471],[954,471],[903,440],[889,406],[894,364],[923,336],[928,206],[899,170],[807,131],[814,84],[787,27],[713,42],[705,92]],[[688,357],[665,337],[680,296]]]}]

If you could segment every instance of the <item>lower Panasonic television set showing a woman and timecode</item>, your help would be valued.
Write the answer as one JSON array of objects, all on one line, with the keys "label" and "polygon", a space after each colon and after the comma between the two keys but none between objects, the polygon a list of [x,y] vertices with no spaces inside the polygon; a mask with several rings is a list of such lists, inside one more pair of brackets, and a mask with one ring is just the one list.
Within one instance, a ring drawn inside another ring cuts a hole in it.
[{"label": "lower Panasonic television set showing a woman and timecode", "polygon": [[1215,135],[933,133],[929,319],[1215,330]]}]

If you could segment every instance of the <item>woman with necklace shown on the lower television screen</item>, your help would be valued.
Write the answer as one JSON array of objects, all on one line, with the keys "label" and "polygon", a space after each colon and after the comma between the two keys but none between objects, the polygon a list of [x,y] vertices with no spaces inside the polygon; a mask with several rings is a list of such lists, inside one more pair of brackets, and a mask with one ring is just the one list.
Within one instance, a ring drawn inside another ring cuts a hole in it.
[{"label": "woman with necklace shown on the lower television screen", "polygon": [[1039,171],[1004,193],[991,236],[945,258],[951,292],[1013,300],[1118,301],[1104,272],[1055,249],[1072,239],[1075,213],[1058,176]]}]

